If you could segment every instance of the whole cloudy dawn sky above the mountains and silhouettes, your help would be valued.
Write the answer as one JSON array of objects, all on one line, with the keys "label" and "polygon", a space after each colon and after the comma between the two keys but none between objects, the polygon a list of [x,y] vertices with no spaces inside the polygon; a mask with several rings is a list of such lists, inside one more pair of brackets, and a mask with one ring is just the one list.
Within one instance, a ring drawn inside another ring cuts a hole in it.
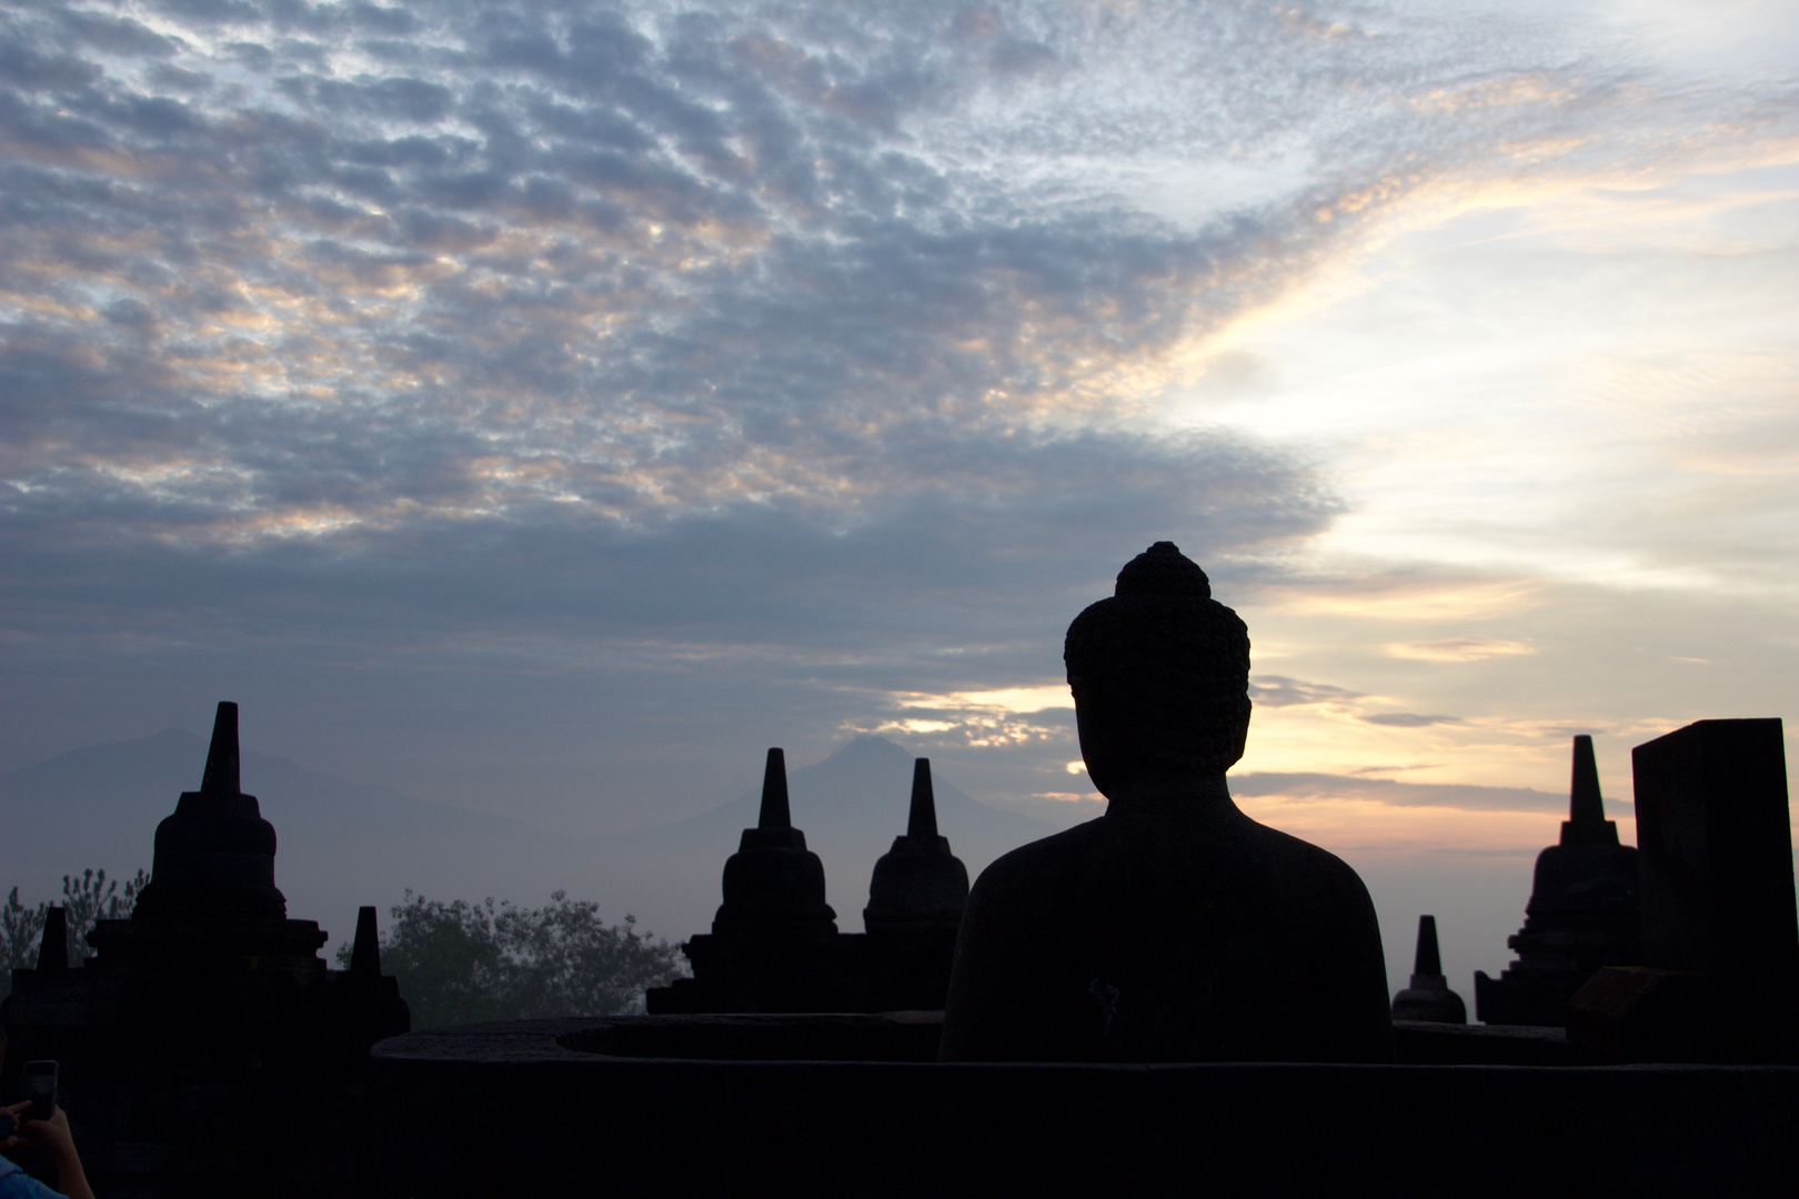
[{"label": "whole cloudy dawn sky above the mountains and silhouettes", "polygon": [[1799,708],[1792,4],[0,14],[0,768],[230,697],[567,834],[853,732],[1072,820],[1155,539],[1364,872]]}]

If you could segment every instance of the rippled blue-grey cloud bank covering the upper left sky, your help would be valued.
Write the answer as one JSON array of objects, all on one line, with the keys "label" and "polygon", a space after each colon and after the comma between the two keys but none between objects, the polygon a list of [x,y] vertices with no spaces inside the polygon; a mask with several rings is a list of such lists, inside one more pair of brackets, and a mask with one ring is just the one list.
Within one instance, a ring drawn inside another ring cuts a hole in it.
[{"label": "rippled blue-grey cloud bank covering the upper left sky", "polygon": [[[1328,480],[1155,395],[1621,86],[1306,4],[0,11],[7,620],[47,642],[176,636],[203,582],[266,638],[1004,651],[1153,536],[1275,570]],[[1268,182],[1159,214],[1171,162]]]}]

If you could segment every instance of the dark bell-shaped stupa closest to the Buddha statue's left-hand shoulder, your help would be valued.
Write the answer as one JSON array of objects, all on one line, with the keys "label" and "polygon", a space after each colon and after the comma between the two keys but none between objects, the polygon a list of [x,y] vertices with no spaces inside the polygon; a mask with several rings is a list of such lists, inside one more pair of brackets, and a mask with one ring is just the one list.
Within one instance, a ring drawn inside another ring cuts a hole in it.
[{"label": "dark bell-shaped stupa closest to the Buddha statue's left-hand shoulder", "polygon": [[867,929],[869,981],[887,1008],[941,1008],[950,990],[955,933],[968,906],[968,866],[937,832],[930,759],[912,764],[905,836],[874,863]]}]

